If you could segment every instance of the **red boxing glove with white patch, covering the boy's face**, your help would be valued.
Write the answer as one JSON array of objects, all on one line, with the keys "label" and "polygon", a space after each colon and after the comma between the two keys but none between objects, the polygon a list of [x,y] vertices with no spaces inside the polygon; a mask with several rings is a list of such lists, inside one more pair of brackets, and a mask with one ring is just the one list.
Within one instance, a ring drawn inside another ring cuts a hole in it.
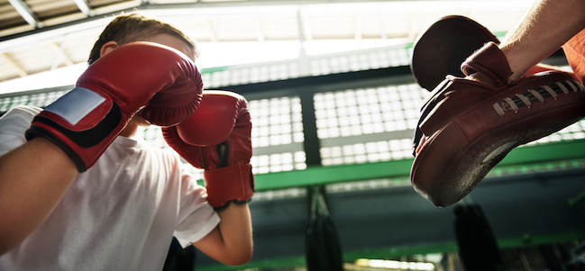
[{"label": "red boxing glove with white patch, covering the boy's face", "polygon": [[195,112],[202,87],[195,64],[178,50],[152,42],[124,44],[97,59],[73,90],[37,115],[26,138],[52,141],[83,172],[153,96],[164,97],[167,107],[157,99],[159,107],[146,115],[172,125]]}]

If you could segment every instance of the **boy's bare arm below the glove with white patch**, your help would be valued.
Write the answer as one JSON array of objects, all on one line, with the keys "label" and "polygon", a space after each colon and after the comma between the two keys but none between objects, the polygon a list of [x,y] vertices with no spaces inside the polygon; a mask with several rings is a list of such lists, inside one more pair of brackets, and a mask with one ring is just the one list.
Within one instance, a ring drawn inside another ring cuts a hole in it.
[{"label": "boy's bare arm below the glove with white patch", "polygon": [[0,255],[45,221],[77,175],[73,161],[43,138],[0,157]]}]

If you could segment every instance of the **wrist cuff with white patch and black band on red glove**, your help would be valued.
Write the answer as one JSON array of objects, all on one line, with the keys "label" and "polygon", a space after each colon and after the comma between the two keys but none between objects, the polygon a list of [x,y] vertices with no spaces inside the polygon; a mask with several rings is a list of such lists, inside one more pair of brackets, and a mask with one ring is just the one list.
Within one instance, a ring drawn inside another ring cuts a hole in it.
[{"label": "wrist cuff with white patch and black band on red glove", "polygon": [[50,140],[84,172],[124,129],[128,118],[112,98],[76,87],[35,116],[25,137]]}]

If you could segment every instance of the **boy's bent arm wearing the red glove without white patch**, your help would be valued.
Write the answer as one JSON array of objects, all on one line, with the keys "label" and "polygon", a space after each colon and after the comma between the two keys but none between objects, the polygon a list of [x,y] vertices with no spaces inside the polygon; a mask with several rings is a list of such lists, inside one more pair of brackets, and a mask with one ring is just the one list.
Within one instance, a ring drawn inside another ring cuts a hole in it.
[{"label": "boy's bent arm wearing the red glove without white patch", "polygon": [[194,245],[226,265],[250,261],[251,218],[247,202],[254,194],[254,177],[247,101],[227,91],[204,91],[196,113],[162,132],[181,157],[205,169],[207,202],[221,218],[215,230]]}]

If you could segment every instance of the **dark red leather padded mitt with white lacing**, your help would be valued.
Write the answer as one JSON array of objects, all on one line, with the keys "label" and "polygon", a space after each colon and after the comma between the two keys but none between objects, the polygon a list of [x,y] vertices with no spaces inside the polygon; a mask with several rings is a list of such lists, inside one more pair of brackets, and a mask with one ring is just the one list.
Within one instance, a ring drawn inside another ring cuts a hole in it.
[{"label": "dark red leather padded mitt with white lacing", "polygon": [[479,72],[496,86],[447,77],[425,101],[410,178],[416,192],[437,206],[469,194],[511,149],[585,116],[585,87],[569,73],[552,70],[508,85],[512,72],[493,42],[462,70],[466,76]]}]

